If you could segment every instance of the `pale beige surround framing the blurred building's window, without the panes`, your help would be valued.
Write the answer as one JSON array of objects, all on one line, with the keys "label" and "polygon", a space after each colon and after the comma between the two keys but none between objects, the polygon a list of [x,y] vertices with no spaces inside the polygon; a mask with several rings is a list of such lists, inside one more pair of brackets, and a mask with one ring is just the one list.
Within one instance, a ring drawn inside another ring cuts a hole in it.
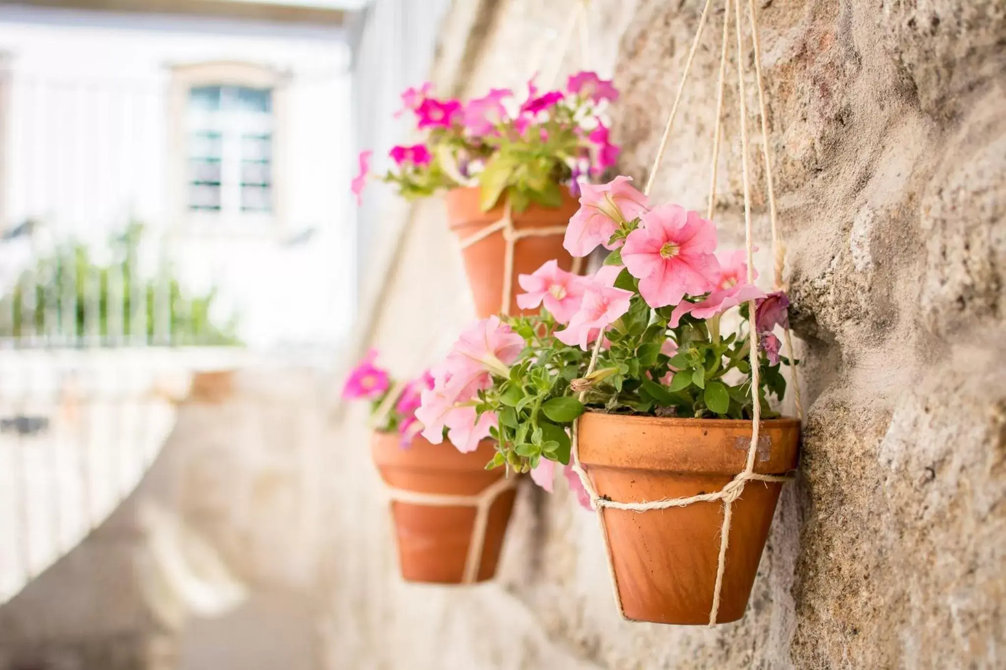
[{"label": "pale beige surround framing the blurred building's window, without the panes", "polygon": [[[282,236],[287,218],[286,138],[290,74],[239,61],[210,61],[171,66],[168,92],[168,200],[174,230],[207,236]],[[272,91],[271,199],[272,211],[200,212],[189,209],[189,91],[199,86],[242,86]]]}]

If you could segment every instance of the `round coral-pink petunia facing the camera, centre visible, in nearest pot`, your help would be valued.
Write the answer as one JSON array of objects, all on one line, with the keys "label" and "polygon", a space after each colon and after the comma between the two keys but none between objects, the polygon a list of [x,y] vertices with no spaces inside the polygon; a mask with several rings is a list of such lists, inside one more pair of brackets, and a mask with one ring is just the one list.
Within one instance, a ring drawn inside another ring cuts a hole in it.
[{"label": "round coral-pink petunia facing the camera, centre visible, in nearest pot", "polygon": [[678,304],[685,295],[712,290],[719,279],[716,228],[679,205],[661,205],[641,217],[629,233],[622,260],[640,279],[639,292],[651,307]]}]

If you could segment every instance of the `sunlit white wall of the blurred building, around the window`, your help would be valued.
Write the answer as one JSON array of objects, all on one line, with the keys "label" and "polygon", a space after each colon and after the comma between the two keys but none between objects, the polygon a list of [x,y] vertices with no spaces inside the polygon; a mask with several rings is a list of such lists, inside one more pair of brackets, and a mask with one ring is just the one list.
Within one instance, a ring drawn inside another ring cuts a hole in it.
[{"label": "sunlit white wall of the blurred building, around the window", "polygon": [[[337,345],[348,327],[348,50],[339,31],[215,19],[0,8],[7,226],[35,218],[101,240],[135,218],[196,285],[215,283],[248,344]],[[193,229],[168,201],[171,66],[231,60],[289,72],[284,220]]]}]

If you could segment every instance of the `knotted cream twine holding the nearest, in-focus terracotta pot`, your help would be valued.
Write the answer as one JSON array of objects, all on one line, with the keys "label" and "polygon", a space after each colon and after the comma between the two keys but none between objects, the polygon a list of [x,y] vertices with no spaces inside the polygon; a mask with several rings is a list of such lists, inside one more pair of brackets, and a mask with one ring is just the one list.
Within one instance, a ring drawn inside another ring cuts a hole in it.
[{"label": "knotted cream twine holding the nearest, in-focus terracotta pot", "polygon": [[[674,118],[677,114],[678,104],[681,101],[682,92],[684,91],[685,82],[688,78],[688,73],[691,70],[692,61],[695,56],[695,50],[698,46],[699,39],[702,35],[702,29],[705,26],[706,17],[708,16],[709,6],[711,5],[711,0],[706,0],[705,6],[702,9],[702,14],[699,17],[698,28],[695,32],[695,38],[692,41],[691,49],[688,52],[688,57],[685,62],[685,69],[681,77],[681,82],[678,85],[677,94],[674,99],[674,103],[671,106],[671,113],[667,120],[667,125],[664,129],[663,137],[661,138],[660,147],[657,150],[657,156],[654,159],[653,168],[650,171],[650,177],[647,180],[646,189],[644,193],[649,195],[651,188],[653,187],[654,180],[660,163],[663,159],[664,152],[667,148],[667,142],[670,138],[671,128],[674,123]],[[734,20],[735,32],[736,32],[736,45],[737,45],[737,106],[738,114],[740,117],[740,145],[741,145],[741,174],[743,183],[743,196],[744,196],[744,244],[747,255],[747,281],[751,284],[754,283],[754,258],[753,251],[754,246],[752,242],[752,230],[751,230],[751,216],[750,216],[750,188],[749,188],[749,178],[747,170],[747,109],[745,105],[744,96],[744,79],[743,79],[743,39],[740,29],[740,0],[733,0],[734,13],[736,18]],[[775,256],[775,285],[776,289],[781,289],[783,284],[783,268],[785,266],[786,258],[786,247],[782,242],[782,237],[779,233],[776,218],[776,206],[775,206],[775,192],[774,183],[772,180],[772,165],[769,155],[769,138],[768,138],[768,123],[766,119],[766,105],[765,105],[765,89],[762,81],[762,67],[761,67],[761,54],[760,45],[758,41],[758,15],[754,10],[753,0],[748,0],[748,16],[750,20],[750,29],[753,34],[754,42],[754,62],[756,62],[756,75],[758,78],[759,85],[759,103],[761,106],[762,114],[762,136],[763,136],[763,148],[764,157],[766,160],[766,173],[767,173],[767,188],[769,191],[769,201],[770,201],[770,220],[772,223],[772,233],[773,233],[773,250]],[[715,184],[716,184],[716,166],[719,152],[719,140],[720,140],[720,124],[722,119],[722,107],[723,107],[723,85],[726,74],[726,62],[727,62],[727,39],[729,35],[729,22],[730,22],[730,0],[726,0],[724,3],[723,12],[723,43],[720,51],[720,66],[719,66],[719,85],[717,92],[716,101],[716,125],[713,132],[713,151],[712,151],[712,165],[711,165],[711,179],[710,179],[710,189],[709,189],[709,208],[708,208],[708,218],[712,217],[715,208]],[[736,501],[741,493],[743,493],[744,486],[748,481],[764,481],[764,482],[784,482],[790,477],[779,476],[779,475],[768,475],[754,472],[754,457],[758,453],[758,443],[759,443],[759,432],[762,420],[762,407],[758,396],[759,389],[761,386],[760,382],[760,369],[759,369],[759,340],[756,326],[756,303],[754,300],[748,300],[748,338],[750,339],[750,369],[751,369],[751,440],[750,445],[747,448],[747,459],[744,464],[744,469],[735,475],[733,479],[726,483],[722,489],[718,491],[713,491],[710,493],[701,493],[698,495],[682,497],[682,498],[665,498],[663,500],[653,500],[644,502],[622,502],[618,500],[611,500],[607,497],[601,497],[598,495],[590,477],[586,475],[586,471],[583,469],[582,464],[579,460],[579,446],[577,440],[577,426],[578,422],[573,423],[571,431],[571,455],[572,455],[572,469],[579,476],[580,482],[583,488],[586,490],[591,497],[591,501],[594,508],[598,513],[598,521],[601,526],[602,534],[605,537],[605,550],[608,557],[608,570],[612,580],[612,586],[615,591],[615,601],[619,608],[619,614],[623,619],[626,619],[625,608],[622,603],[622,596],[619,592],[618,577],[615,572],[615,557],[612,552],[611,541],[608,534],[608,527],[605,521],[605,508],[618,509],[623,511],[635,511],[635,512],[645,512],[654,509],[669,509],[671,507],[685,507],[696,502],[712,502],[714,500],[721,500],[723,504],[723,520],[720,526],[720,540],[719,540],[719,555],[716,565],[716,582],[712,593],[712,605],[709,610],[709,626],[712,627],[716,624],[716,617],[719,613],[720,597],[723,586],[723,574],[726,566],[726,549],[729,544],[729,533],[730,533],[730,523],[732,519],[732,506],[733,502]],[[597,367],[598,357],[601,353],[602,343],[604,342],[604,330],[598,334],[597,343],[594,346],[594,350],[591,355],[591,362],[588,366],[588,375],[594,372]],[[793,366],[793,356],[792,356],[792,340],[790,337],[789,325],[786,326],[786,342],[788,348],[788,354],[790,356],[790,366],[794,374],[794,386],[797,388],[797,412],[801,420],[803,419],[803,408],[800,403],[800,391],[799,385],[796,378],[796,368]],[[586,396],[586,391],[579,394],[580,402]]]}]

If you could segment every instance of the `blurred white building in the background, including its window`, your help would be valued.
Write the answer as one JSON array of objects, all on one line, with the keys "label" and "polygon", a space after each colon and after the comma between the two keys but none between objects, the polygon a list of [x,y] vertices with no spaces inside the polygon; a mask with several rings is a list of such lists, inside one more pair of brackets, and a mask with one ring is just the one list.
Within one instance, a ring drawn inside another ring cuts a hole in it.
[{"label": "blurred white building in the background, including its window", "polygon": [[26,222],[30,244],[73,236],[100,248],[137,221],[186,283],[219,289],[245,343],[337,346],[355,300],[339,12],[40,6],[49,4],[74,3],[0,7],[5,274],[30,255],[16,234]]}]

